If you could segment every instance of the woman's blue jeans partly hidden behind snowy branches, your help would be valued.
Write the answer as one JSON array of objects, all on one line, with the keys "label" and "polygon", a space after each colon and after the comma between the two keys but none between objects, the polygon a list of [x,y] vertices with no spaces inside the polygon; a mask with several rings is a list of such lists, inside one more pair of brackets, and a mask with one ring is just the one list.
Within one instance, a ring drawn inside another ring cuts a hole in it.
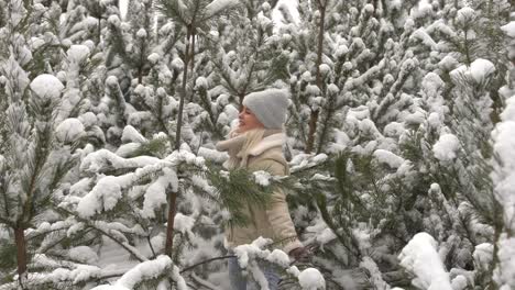
[{"label": "woman's blue jeans partly hidden behind snowy branches", "polygon": [[[238,264],[238,258],[229,258],[229,279],[231,281],[232,290],[260,290],[260,286],[252,279],[248,279],[246,276],[243,276],[242,268]],[[277,290],[281,277],[275,272],[273,267],[265,265],[264,263],[258,263],[261,271],[264,274],[266,281],[269,281],[270,290]],[[248,274],[252,276],[252,274]]]}]

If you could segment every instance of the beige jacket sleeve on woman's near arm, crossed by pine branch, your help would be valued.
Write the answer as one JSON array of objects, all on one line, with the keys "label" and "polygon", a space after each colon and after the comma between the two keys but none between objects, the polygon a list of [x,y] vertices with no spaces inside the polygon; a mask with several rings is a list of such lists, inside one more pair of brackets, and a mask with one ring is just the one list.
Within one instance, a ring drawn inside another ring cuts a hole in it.
[{"label": "beige jacket sleeve on woman's near arm, crossed by pine branch", "polygon": [[[284,176],[286,168],[283,164],[274,159],[263,159],[252,166],[253,171],[264,170],[274,176]],[[302,247],[303,244],[298,241],[295,226],[289,215],[286,196],[281,188],[277,188],[272,193],[270,204],[266,207],[266,216],[277,242],[282,245],[283,250],[288,254],[292,249]]]}]

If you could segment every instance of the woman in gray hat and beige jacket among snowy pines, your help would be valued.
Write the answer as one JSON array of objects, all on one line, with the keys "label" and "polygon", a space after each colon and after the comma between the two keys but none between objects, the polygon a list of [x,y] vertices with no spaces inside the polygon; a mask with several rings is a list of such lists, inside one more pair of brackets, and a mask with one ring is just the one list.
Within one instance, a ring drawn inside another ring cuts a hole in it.
[{"label": "woman in gray hat and beige jacket among snowy pines", "polygon": [[[277,89],[253,92],[243,99],[243,109],[239,114],[239,126],[229,134],[229,140],[217,144],[218,150],[228,152],[230,158],[223,164],[226,168],[245,168],[250,171],[266,170],[272,175],[288,174],[288,165],[283,156],[282,146],[285,140],[283,124],[288,105],[287,94]],[[226,241],[231,248],[250,244],[262,236],[272,238],[274,245],[288,253],[295,259],[306,254],[298,241],[289,216],[284,192],[277,189],[266,207],[248,204],[244,213],[252,217],[245,226],[226,228]],[[252,214],[250,214],[252,213]],[[272,269],[261,267],[269,288],[277,289],[280,277]],[[233,290],[248,289],[248,281],[241,274],[238,260],[229,260],[229,276]]]}]

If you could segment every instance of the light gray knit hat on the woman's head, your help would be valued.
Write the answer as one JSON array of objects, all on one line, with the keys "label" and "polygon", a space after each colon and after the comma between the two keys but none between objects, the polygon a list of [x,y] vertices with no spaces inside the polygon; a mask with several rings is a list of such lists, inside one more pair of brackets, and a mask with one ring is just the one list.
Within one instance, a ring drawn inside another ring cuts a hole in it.
[{"label": "light gray knit hat on the woman's head", "polygon": [[288,108],[288,94],[280,89],[256,91],[245,96],[243,105],[249,108],[266,129],[282,129]]}]

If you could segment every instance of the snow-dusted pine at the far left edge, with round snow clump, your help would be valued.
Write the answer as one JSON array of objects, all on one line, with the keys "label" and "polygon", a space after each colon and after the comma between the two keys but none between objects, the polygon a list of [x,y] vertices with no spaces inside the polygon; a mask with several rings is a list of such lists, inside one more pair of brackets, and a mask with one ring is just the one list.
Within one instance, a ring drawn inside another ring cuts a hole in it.
[{"label": "snow-dusted pine at the far left edge, with round snow clump", "polygon": [[[73,148],[63,145],[77,141],[83,132],[80,126],[72,127],[76,124],[69,119],[56,118],[59,107],[67,107],[62,102],[64,86],[55,76],[42,74],[39,64],[43,57],[33,54],[41,47],[35,43],[43,45],[42,52],[52,47],[44,45],[42,38],[30,38],[30,29],[36,27],[45,8],[11,1],[2,9],[10,20],[1,27],[2,52],[6,52],[0,66],[1,222],[9,228],[15,245],[19,287],[29,289],[31,277],[28,274],[33,267],[31,252],[34,244],[26,230],[56,214],[53,210],[55,199],[76,159]],[[55,37],[47,36],[50,43]]]}]

